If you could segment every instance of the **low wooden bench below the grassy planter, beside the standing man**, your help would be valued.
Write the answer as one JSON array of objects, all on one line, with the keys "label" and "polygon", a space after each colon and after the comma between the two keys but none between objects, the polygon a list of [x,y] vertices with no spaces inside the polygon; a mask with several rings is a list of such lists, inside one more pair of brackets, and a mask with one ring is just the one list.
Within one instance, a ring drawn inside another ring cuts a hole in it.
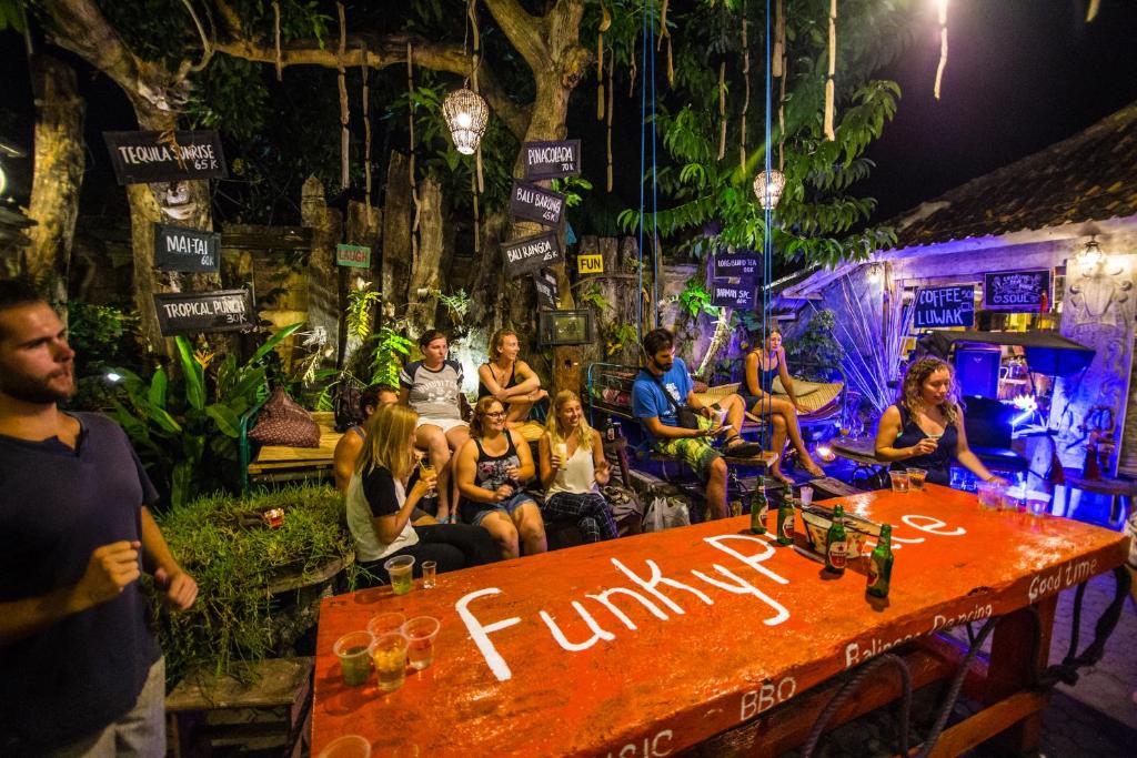
[{"label": "low wooden bench below the grassy planter, beside the standing man", "polygon": [[247,681],[191,672],[166,695],[173,755],[241,745],[299,758],[310,732],[314,669],[314,658],[267,658],[251,665]]}]

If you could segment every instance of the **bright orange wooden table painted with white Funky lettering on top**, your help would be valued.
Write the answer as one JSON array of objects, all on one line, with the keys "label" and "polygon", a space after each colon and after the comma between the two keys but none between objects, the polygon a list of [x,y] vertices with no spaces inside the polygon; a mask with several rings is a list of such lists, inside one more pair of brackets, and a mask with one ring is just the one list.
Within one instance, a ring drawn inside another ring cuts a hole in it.
[{"label": "bright orange wooden table painted with white Funky lettering on top", "polygon": [[[949,678],[962,653],[933,633],[991,617],[989,663],[964,683],[988,707],[945,731],[933,755],[999,732],[1031,747],[1047,695],[1029,685],[1046,664],[1056,595],[1123,565],[1128,540],[981,511],[974,495],[936,485],[831,502],[894,525],[886,600],[866,598],[863,559],[833,577],[750,534],[746,517],[441,575],[401,597],[325,599],[313,755],[352,733],[373,756],[644,758],[700,743],[702,755],[777,755],[832,698],[829,680],[886,651],[904,656],[913,686]],[[391,610],[441,619],[434,664],[390,693],[374,675],[346,686],[332,644]],[[832,723],[887,703],[898,682],[880,667]]]}]

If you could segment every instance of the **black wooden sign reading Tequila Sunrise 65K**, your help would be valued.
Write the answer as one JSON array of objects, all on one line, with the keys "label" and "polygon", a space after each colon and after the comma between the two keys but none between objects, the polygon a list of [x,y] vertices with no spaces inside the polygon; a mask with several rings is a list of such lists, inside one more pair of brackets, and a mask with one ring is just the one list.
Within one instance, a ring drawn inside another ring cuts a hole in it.
[{"label": "black wooden sign reading Tequila Sunrise 65K", "polygon": [[102,139],[119,184],[229,176],[216,131],[103,132]]}]

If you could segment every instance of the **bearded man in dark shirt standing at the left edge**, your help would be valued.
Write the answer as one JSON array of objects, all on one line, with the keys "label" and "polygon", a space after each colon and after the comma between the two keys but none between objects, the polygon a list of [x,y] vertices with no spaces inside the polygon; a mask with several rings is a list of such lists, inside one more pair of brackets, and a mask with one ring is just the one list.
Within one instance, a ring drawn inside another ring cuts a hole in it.
[{"label": "bearded man in dark shirt standing at the left edge", "polygon": [[179,609],[198,588],[122,428],[57,407],[74,357],[50,306],[0,280],[0,755],[160,756],[165,666],[138,580]]}]

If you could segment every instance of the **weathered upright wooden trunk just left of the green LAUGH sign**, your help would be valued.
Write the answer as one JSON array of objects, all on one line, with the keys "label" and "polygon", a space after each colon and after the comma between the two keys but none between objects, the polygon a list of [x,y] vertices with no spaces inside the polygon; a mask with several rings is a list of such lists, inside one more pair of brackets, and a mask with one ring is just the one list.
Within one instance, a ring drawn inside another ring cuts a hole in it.
[{"label": "weathered upright wooden trunk just left of the green LAUGH sign", "polygon": [[308,256],[308,327],[324,331],[327,338],[325,356],[334,360],[340,344],[340,275],[335,265],[335,245],[343,238],[343,214],[329,208],[324,185],[315,176],[304,182],[300,218],[313,228],[312,252]]}]

